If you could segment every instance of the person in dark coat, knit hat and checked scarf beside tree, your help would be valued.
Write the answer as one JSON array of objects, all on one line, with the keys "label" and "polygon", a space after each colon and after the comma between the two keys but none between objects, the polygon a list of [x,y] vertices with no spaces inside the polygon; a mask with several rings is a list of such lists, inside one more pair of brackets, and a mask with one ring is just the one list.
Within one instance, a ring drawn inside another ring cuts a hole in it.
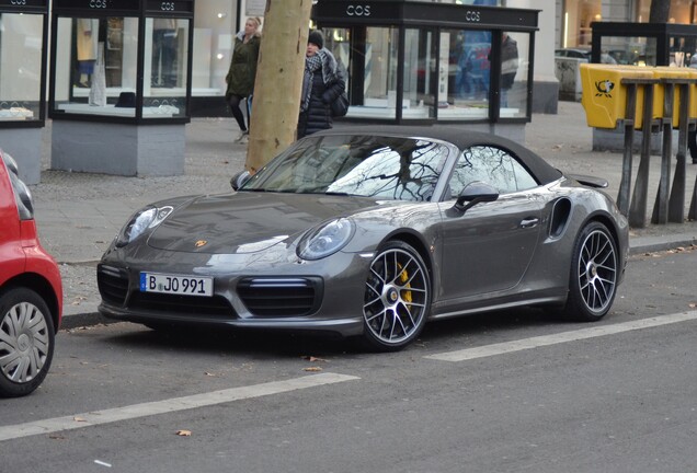
[{"label": "person in dark coat, knit hat and checked scarf beside tree", "polygon": [[324,36],[317,30],[311,31],[305,57],[298,139],[332,127],[330,104],[345,86],[336,59],[324,49]]}]

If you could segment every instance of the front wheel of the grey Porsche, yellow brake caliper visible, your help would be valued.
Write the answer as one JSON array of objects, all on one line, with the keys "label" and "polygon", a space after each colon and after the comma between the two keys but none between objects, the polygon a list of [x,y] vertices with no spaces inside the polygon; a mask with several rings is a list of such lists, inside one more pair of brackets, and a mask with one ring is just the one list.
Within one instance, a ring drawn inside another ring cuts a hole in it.
[{"label": "front wheel of the grey Porsche, yellow brake caliper visible", "polygon": [[378,351],[397,351],[413,342],[426,322],[431,280],[419,253],[388,242],[370,263],[363,304],[364,341]]}]

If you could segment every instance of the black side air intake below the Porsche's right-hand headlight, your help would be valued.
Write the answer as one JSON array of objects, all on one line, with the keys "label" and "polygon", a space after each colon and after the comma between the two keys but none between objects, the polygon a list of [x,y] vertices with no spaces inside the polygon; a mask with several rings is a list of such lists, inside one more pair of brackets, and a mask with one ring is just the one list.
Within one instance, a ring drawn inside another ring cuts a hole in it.
[{"label": "black side air intake below the Porsche's right-hand headlight", "polygon": [[237,292],[253,315],[300,316],[319,308],[322,281],[316,277],[244,278]]}]

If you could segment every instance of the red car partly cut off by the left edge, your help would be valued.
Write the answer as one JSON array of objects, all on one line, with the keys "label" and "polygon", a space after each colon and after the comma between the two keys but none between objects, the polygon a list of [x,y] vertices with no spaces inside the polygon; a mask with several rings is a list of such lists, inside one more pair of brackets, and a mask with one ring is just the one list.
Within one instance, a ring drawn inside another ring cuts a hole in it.
[{"label": "red car partly cut off by the left edge", "polygon": [[0,151],[0,397],[30,394],[54,357],[62,284],[38,242],[32,194]]}]

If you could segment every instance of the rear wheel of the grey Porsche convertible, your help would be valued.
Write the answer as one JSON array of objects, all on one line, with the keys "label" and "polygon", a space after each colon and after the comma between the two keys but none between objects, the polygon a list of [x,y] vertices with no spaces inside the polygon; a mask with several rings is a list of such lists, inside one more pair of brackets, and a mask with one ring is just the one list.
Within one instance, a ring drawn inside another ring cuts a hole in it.
[{"label": "rear wheel of the grey Porsche convertible", "polygon": [[573,249],[565,316],[581,322],[601,320],[615,300],[618,273],[615,239],[603,223],[589,223]]}]

